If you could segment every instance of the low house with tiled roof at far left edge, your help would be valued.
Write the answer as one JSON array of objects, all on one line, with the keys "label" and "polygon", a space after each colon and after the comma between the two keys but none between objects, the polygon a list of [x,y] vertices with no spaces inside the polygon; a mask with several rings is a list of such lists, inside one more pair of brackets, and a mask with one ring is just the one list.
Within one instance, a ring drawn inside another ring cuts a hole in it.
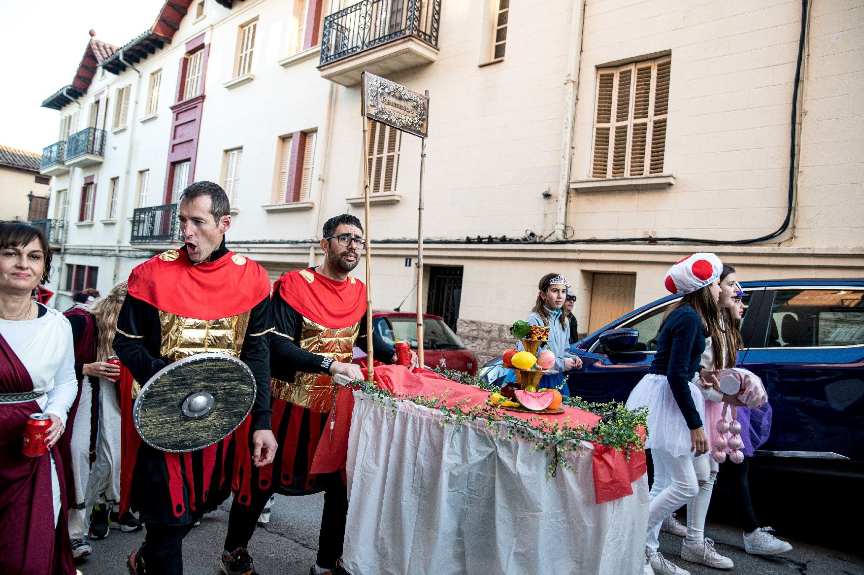
[{"label": "low house with tiled roof at far left edge", "polygon": [[39,173],[40,154],[0,145],[0,220],[42,220],[51,179]]}]

